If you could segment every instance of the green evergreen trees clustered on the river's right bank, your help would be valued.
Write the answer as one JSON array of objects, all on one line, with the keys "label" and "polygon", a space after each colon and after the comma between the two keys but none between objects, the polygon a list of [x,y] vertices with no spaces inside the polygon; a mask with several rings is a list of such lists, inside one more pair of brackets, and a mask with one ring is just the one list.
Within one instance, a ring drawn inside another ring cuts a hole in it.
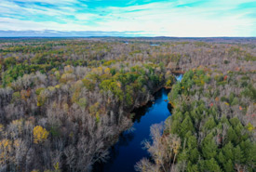
[{"label": "green evergreen trees clustered on the river's right bank", "polygon": [[[187,171],[234,171],[236,165],[246,165],[251,170],[249,165],[253,164],[252,153],[255,152],[255,143],[249,141],[249,132],[245,131],[252,131],[254,126],[250,123],[243,126],[237,117],[227,118],[222,115],[220,118],[218,87],[227,84],[228,77],[231,78],[232,75],[216,75],[216,89],[212,91],[214,86],[209,86],[209,91],[205,91],[200,86],[204,86],[204,83],[210,84],[210,75],[202,70],[188,71],[183,75],[182,82],[172,86],[168,94],[168,99],[175,105],[170,119],[170,132],[182,139],[183,147],[178,154],[178,164],[186,162]],[[199,88],[191,91],[195,85]],[[254,89],[252,85],[248,85],[242,95],[254,99]],[[195,92],[204,100],[184,99],[193,97]],[[207,99],[213,98],[217,102],[216,105],[206,105],[207,94]],[[235,93],[221,97],[222,102],[231,106],[238,105],[240,99],[241,96]],[[223,125],[227,127],[224,129]],[[225,132],[224,137],[222,130]],[[195,137],[199,135],[204,136],[200,142],[198,137]]]}]

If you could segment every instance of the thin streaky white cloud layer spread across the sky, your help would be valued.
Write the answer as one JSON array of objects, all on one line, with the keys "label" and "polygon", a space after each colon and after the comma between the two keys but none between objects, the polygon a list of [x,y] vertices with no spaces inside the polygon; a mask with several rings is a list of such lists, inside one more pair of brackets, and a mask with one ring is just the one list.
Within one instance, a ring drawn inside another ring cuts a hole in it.
[{"label": "thin streaky white cloud layer spread across the sky", "polygon": [[[54,9],[34,4],[20,7],[7,0],[1,1],[3,3],[0,4],[0,10],[4,16],[0,16],[0,30],[143,31],[148,35],[166,36],[253,36],[256,28],[255,18],[247,17],[255,7],[237,9],[241,3],[253,2],[252,0],[215,0],[195,7],[177,7],[191,3],[189,0],[180,0],[141,6],[95,7],[93,10],[88,10],[85,3],[83,6],[71,6],[79,4],[77,0],[19,0],[58,4],[58,8]],[[81,7],[87,12],[78,13],[77,10]],[[57,20],[38,22],[33,20],[37,15]],[[22,17],[27,19],[20,20]],[[90,22],[95,24],[89,25]]]}]

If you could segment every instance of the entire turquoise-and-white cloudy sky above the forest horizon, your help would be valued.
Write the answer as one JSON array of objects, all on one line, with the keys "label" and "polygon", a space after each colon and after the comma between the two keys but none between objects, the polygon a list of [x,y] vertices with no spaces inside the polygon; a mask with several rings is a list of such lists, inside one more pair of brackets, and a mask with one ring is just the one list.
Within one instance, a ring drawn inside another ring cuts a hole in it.
[{"label": "entire turquoise-and-white cloudy sky above the forest horizon", "polygon": [[0,37],[255,37],[256,0],[0,0]]}]

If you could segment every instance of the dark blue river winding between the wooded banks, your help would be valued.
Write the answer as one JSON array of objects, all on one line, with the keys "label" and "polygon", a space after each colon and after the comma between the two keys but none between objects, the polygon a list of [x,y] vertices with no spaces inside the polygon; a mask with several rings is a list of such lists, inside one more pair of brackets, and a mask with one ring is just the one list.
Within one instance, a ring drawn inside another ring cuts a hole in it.
[{"label": "dark blue river winding between the wooded banks", "polygon": [[97,165],[97,172],[132,172],[134,165],[143,157],[148,157],[142,149],[141,142],[150,139],[150,126],[164,122],[170,112],[168,110],[168,90],[162,88],[155,94],[154,102],[137,109],[133,118],[134,131],[125,131],[118,142],[111,148],[110,159],[106,164]]}]

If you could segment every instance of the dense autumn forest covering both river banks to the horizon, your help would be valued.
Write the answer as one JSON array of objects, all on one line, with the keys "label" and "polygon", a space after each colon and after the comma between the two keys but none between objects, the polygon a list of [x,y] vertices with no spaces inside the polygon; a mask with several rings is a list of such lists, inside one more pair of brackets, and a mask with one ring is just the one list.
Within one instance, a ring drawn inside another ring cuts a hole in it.
[{"label": "dense autumn forest covering both river banks to the horizon", "polygon": [[164,86],[137,170],[253,171],[255,60],[253,38],[0,39],[0,171],[91,171]]}]

